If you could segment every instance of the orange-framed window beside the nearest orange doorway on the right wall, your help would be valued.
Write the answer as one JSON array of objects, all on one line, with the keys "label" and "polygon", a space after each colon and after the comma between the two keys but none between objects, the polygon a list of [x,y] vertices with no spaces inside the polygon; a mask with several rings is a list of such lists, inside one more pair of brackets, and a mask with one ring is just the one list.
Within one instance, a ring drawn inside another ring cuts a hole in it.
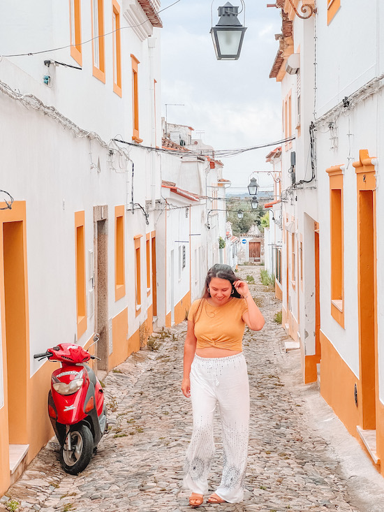
[{"label": "orange-framed window beside the nearest orange doorway on the right wall", "polygon": [[330,176],[331,314],[344,327],[344,166],[327,169]]}]

